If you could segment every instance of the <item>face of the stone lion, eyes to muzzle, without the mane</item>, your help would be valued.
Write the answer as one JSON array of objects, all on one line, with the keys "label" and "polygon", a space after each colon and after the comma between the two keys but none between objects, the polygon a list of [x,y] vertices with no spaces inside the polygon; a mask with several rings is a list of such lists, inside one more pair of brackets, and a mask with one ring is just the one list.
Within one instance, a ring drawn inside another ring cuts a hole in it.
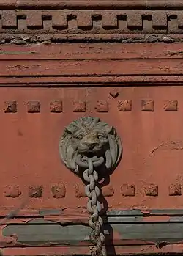
[{"label": "face of the stone lion, eyes to muzzle, without the mane", "polygon": [[97,128],[93,130],[81,128],[73,134],[71,143],[73,149],[78,153],[98,155],[108,145],[108,133]]}]

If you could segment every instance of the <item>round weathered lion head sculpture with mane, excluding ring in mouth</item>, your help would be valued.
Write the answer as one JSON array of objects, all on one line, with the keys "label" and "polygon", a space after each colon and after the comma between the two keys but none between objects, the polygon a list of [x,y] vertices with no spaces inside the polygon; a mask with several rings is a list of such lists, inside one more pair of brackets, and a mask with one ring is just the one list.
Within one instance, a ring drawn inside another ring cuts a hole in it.
[{"label": "round weathered lion head sculpture with mane, excluding ring in mouth", "polygon": [[114,167],[122,153],[122,145],[112,126],[97,117],[82,117],[67,128],[59,140],[59,153],[64,164],[76,172],[75,159],[83,156],[103,156],[105,167]]}]

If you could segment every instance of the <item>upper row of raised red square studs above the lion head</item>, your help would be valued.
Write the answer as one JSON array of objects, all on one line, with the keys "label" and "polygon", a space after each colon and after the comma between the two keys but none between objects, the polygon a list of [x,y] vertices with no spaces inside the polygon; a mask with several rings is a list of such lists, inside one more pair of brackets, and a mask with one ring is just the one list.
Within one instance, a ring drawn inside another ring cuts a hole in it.
[{"label": "upper row of raised red square studs above the lion head", "polygon": [[[116,97],[118,97],[119,94],[116,92],[116,94],[113,94],[113,98],[111,100],[115,100]],[[49,111],[51,113],[65,113],[67,112],[67,108],[64,104],[64,100],[51,100],[48,103],[44,103],[44,106],[41,106],[41,103],[39,100],[30,100],[26,103],[27,113],[40,113],[42,109],[49,105]],[[73,112],[78,113],[84,113],[87,111],[87,108],[89,106],[90,102],[85,100],[76,100],[71,103],[70,109],[72,109]],[[154,111],[160,111],[160,108],[164,111],[179,111],[181,109],[178,109],[178,100],[162,100],[161,106],[159,104],[158,109],[156,109],[155,102],[152,99],[144,99],[139,100],[138,105],[136,102],[135,109],[132,108],[133,100],[129,99],[122,99],[117,100],[116,109],[120,112],[130,112],[130,111],[142,111],[142,112],[154,112]],[[18,101],[17,100],[5,100],[4,101],[4,113],[17,113],[18,112]],[[113,107],[113,104],[110,104],[110,101],[108,100],[95,100],[94,102],[94,109],[93,111],[96,111],[98,113],[108,113],[111,110],[111,107]],[[92,110],[92,109],[91,109]]]}]

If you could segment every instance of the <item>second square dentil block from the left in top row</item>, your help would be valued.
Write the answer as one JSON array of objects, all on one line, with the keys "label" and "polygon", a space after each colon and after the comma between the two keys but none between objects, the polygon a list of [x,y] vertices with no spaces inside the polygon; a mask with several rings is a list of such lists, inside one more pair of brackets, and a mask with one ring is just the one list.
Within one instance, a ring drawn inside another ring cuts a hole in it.
[{"label": "second square dentil block from the left in top row", "polygon": [[42,12],[32,11],[26,15],[28,29],[43,29]]}]

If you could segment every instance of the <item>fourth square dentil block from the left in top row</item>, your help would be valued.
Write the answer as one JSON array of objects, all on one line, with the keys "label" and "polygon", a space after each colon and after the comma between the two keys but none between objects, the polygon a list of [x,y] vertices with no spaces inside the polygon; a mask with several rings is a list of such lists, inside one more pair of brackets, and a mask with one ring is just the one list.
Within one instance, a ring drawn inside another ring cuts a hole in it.
[{"label": "fourth square dentil block from the left in top row", "polygon": [[78,29],[92,29],[91,12],[78,12],[77,24]]}]

